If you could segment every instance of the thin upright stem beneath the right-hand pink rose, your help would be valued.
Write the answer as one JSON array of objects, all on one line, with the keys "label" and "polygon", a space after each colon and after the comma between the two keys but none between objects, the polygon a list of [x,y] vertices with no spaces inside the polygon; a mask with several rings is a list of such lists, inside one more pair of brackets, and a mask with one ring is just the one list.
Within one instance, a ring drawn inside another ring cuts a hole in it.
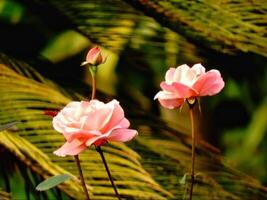
[{"label": "thin upright stem beneath the right-hand pink rose", "polygon": [[193,188],[194,188],[194,180],[195,180],[195,123],[194,123],[194,111],[193,106],[190,107],[190,118],[191,118],[191,132],[192,132],[192,158],[191,158],[191,186],[190,186],[190,197],[189,199],[192,200],[193,197]]}]

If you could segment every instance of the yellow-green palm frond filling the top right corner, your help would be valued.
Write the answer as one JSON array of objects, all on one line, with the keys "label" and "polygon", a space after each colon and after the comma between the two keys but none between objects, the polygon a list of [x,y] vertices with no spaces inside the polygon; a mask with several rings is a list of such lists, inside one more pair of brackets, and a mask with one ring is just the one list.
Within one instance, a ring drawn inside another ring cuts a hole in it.
[{"label": "yellow-green palm frond filling the top right corner", "polygon": [[220,51],[267,56],[264,0],[125,0],[192,41]]}]

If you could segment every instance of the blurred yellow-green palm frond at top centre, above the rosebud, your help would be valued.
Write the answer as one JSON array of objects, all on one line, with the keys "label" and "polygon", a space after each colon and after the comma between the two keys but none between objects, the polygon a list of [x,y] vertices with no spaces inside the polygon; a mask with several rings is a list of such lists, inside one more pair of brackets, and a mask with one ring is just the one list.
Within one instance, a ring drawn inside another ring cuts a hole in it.
[{"label": "blurred yellow-green palm frond at top centre, above the rosebud", "polygon": [[[181,60],[184,60],[184,57],[189,60],[202,60],[196,54],[194,45],[184,37],[162,27],[122,0],[56,0],[45,3],[40,0],[20,1],[29,8],[34,8],[36,14],[46,21],[53,23],[58,20],[65,28],[75,29],[91,41],[117,54],[125,55],[127,53],[122,50],[129,48],[141,52],[149,63],[160,60],[163,65],[167,57],[172,57],[173,62],[170,64],[175,65],[177,55]],[[47,12],[53,14],[53,17],[49,18]],[[133,59],[141,58],[134,56]]]}]

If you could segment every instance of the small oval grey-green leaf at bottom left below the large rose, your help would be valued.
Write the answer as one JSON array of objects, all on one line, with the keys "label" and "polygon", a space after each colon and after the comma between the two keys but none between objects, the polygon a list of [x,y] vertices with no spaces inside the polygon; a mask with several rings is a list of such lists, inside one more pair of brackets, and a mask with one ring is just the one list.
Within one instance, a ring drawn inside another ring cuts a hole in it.
[{"label": "small oval grey-green leaf at bottom left below the large rose", "polygon": [[39,191],[44,191],[44,190],[49,190],[69,179],[73,178],[69,174],[60,174],[56,176],[52,176],[45,181],[41,182],[40,184],[37,185],[36,190]]}]

